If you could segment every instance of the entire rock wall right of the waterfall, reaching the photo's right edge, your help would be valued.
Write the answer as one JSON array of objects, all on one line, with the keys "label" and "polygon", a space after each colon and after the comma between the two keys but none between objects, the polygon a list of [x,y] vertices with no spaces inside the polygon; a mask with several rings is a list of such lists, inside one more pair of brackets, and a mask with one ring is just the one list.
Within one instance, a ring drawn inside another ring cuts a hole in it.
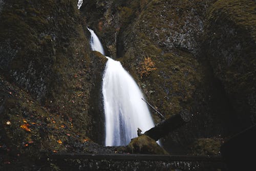
[{"label": "entire rock wall right of the waterfall, reaching the photo's right edge", "polygon": [[[252,58],[255,51],[251,48],[255,45],[253,34],[246,34],[246,37],[239,40],[240,44],[230,41],[231,46],[223,45],[228,41],[227,35],[237,35],[239,39],[243,34],[241,31],[252,33],[255,28],[252,12],[254,2],[250,2],[250,6],[246,3],[216,0],[98,0],[87,1],[81,11],[90,20],[91,27],[101,37],[109,54],[123,63],[137,80],[147,100],[154,103],[158,111],[166,118],[181,110],[193,114],[190,123],[170,134],[169,138],[166,137],[168,145],[180,147],[180,153],[181,149],[188,148],[188,144],[193,144],[197,139],[203,138],[203,141],[204,138],[212,137],[221,142],[223,137],[249,126],[249,116],[254,116],[255,90],[252,85],[255,81],[248,81],[255,76],[255,61]],[[228,30],[234,26],[231,22],[234,19],[240,22],[240,26],[244,25],[245,29]],[[224,30],[219,29],[222,25],[225,26]],[[252,39],[248,38],[250,36]],[[244,50],[241,50],[242,45]],[[231,48],[230,53],[225,47]],[[234,48],[237,50],[231,52]],[[246,72],[237,72],[241,77],[227,72],[223,69],[226,64],[219,63],[219,60],[229,58],[237,51],[240,55],[243,53],[243,60],[247,61],[244,66],[249,66],[243,67],[247,69]],[[241,86],[235,86],[238,78],[233,77],[246,77],[246,80],[241,82]],[[243,85],[248,85],[247,93],[241,90],[244,89]],[[234,93],[236,90],[239,90],[241,96]],[[243,113],[241,109],[244,107],[248,115],[242,114],[247,118],[244,119],[247,121],[242,121],[242,126],[237,116]],[[156,122],[160,121],[158,116],[153,117]]]}]

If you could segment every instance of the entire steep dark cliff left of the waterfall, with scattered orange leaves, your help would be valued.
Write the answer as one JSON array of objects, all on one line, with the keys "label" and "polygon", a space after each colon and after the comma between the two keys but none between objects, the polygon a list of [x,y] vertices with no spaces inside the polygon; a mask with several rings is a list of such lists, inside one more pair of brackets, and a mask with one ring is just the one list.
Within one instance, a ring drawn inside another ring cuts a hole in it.
[{"label": "entire steep dark cliff left of the waterfall, with scattered orange leaves", "polygon": [[91,54],[76,1],[0,7],[1,163],[17,158],[25,166],[40,151],[83,151],[98,105],[90,102],[92,88],[106,59]]}]

